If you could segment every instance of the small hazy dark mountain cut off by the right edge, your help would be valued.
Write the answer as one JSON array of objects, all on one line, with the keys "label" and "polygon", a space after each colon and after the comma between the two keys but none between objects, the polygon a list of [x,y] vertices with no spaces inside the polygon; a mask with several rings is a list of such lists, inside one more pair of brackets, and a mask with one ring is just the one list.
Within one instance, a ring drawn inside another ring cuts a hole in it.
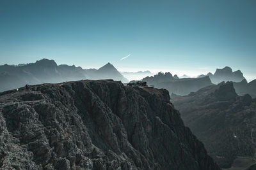
[{"label": "small hazy dark mountain cut off by the right edge", "polygon": [[239,95],[250,94],[253,98],[256,97],[256,79],[249,83],[245,79],[241,82],[234,83],[234,88]]}]

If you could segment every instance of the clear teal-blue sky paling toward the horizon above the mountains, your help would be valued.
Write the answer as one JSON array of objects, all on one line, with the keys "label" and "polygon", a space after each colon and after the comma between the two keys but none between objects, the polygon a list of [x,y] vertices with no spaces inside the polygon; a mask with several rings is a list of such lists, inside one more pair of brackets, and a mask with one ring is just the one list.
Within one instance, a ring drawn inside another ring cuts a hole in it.
[{"label": "clear teal-blue sky paling toward the horizon above the mountains", "polygon": [[0,65],[47,58],[189,76],[230,66],[252,80],[255,9],[255,0],[1,0]]}]

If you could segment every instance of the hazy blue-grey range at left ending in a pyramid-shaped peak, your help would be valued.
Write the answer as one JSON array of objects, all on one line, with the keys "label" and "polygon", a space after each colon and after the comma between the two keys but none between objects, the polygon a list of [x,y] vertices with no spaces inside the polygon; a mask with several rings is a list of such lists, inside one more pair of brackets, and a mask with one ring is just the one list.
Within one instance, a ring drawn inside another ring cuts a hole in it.
[{"label": "hazy blue-grey range at left ending in a pyramid-shaped peak", "polygon": [[26,84],[58,83],[72,80],[113,79],[128,82],[115,67],[108,63],[100,69],[82,69],[81,67],[60,65],[54,60],[42,59],[35,63],[0,66],[0,91],[17,89]]}]

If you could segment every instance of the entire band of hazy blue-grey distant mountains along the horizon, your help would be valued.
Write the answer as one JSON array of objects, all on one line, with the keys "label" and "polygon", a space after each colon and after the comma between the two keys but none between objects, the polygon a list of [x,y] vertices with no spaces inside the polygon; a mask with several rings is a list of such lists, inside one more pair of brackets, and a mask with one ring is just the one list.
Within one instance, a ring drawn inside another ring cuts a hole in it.
[{"label": "entire band of hazy blue-grey distant mountains along the horizon", "polygon": [[[125,76],[123,76],[124,74]],[[122,72],[122,74],[110,63],[99,69],[83,69],[82,67],[57,65],[54,60],[42,59],[35,63],[0,66],[0,92],[10,89],[18,89],[26,84],[59,83],[74,80],[100,80],[113,79],[123,83],[129,80],[146,81],[149,85],[169,90],[170,94],[188,95],[203,87],[212,85],[211,82],[236,81],[234,87],[237,94],[250,94],[256,97],[256,80],[249,83],[244,79],[241,71],[233,72],[230,67],[216,69],[214,74],[208,76],[201,74],[197,78],[179,78],[176,74],[161,73],[152,76],[150,71]],[[128,77],[129,80],[127,80]],[[186,75],[184,75],[186,76]],[[144,77],[144,78],[143,78]]]}]

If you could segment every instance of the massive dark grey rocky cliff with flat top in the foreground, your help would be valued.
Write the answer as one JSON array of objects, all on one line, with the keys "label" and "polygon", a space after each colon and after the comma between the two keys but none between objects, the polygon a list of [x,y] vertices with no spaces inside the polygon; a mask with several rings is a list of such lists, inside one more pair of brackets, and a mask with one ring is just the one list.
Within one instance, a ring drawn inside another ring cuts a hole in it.
[{"label": "massive dark grey rocky cliff with flat top in the foreground", "polygon": [[106,80],[1,93],[0,158],[6,169],[220,169],[168,91]]}]

